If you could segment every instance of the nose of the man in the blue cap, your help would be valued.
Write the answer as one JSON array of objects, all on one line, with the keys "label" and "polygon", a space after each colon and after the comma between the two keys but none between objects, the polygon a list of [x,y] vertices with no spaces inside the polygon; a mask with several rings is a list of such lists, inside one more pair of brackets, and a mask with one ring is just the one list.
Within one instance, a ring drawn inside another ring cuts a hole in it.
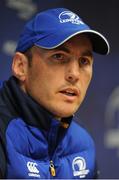
[{"label": "nose of the man in the blue cap", "polygon": [[66,80],[72,84],[75,84],[80,77],[80,67],[79,63],[76,60],[73,60],[68,64],[66,71]]}]

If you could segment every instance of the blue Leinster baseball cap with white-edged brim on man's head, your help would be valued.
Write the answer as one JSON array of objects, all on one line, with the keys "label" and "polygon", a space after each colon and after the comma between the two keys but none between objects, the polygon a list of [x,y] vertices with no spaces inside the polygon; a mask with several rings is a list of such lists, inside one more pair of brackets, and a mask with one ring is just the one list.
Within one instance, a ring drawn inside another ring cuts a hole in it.
[{"label": "blue Leinster baseball cap with white-edged brim on man's head", "polygon": [[65,8],[40,12],[30,20],[20,35],[16,51],[25,52],[34,45],[54,49],[78,34],[88,35],[94,52],[109,53],[107,39],[91,29],[77,14]]}]

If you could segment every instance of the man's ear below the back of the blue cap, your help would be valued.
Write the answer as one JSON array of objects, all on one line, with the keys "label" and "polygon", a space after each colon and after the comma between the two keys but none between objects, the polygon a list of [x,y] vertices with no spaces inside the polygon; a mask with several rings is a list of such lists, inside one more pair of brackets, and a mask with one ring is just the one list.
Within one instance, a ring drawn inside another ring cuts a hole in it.
[{"label": "man's ear below the back of the blue cap", "polygon": [[27,71],[28,71],[27,57],[20,52],[16,52],[12,62],[13,75],[23,82],[26,79]]}]

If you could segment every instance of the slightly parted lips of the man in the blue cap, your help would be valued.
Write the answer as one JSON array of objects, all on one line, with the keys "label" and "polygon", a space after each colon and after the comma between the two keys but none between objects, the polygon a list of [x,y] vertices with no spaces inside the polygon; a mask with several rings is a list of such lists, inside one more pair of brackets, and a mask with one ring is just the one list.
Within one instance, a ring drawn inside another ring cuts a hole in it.
[{"label": "slightly parted lips of the man in the blue cap", "polygon": [[65,88],[60,91],[60,93],[66,96],[79,96],[80,92],[77,88]]}]

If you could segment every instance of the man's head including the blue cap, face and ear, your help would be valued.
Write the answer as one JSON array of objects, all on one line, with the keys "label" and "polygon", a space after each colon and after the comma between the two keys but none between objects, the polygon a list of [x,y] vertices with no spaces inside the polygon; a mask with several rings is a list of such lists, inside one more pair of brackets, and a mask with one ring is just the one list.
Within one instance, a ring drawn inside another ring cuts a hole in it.
[{"label": "man's head including the blue cap, face and ear", "polygon": [[16,51],[12,69],[21,88],[62,118],[74,114],[85,97],[93,51],[108,54],[109,45],[76,14],[58,8],[38,14],[25,26]]}]

